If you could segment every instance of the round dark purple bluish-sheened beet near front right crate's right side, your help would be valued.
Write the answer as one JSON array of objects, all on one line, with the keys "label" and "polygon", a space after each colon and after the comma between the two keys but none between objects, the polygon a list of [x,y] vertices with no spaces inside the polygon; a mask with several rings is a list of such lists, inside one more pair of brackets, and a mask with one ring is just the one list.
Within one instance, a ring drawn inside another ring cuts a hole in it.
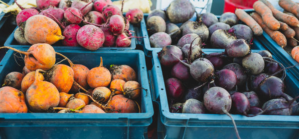
[{"label": "round dark purple bluish-sheened beet near front right crate's right side", "polygon": [[282,96],[283,91],[284,82],[276,76],[267,77],[260,83],[258,87],[258,93],[268,100]]}]

